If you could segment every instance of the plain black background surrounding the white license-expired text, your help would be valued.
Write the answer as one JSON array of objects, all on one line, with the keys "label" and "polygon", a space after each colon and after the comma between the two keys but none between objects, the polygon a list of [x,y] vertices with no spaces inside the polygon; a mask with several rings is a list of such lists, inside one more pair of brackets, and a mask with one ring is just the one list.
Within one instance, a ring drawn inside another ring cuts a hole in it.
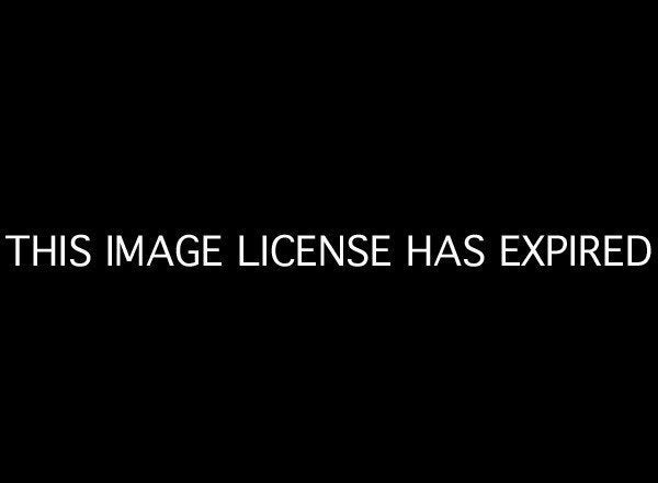
[{"label": "plain black background surrounding the white license-expired text", "polygon": [[[396,267],[5,263],[13,453],[627,471],[651,427],[655,261],[504,270],[497,239],[655,243],[649,32],[591,12],[271,13],[33,12],[3,60],[2,234],[390,233]],[[407,234],[469,233],[483,269],[404,268]]]}]

